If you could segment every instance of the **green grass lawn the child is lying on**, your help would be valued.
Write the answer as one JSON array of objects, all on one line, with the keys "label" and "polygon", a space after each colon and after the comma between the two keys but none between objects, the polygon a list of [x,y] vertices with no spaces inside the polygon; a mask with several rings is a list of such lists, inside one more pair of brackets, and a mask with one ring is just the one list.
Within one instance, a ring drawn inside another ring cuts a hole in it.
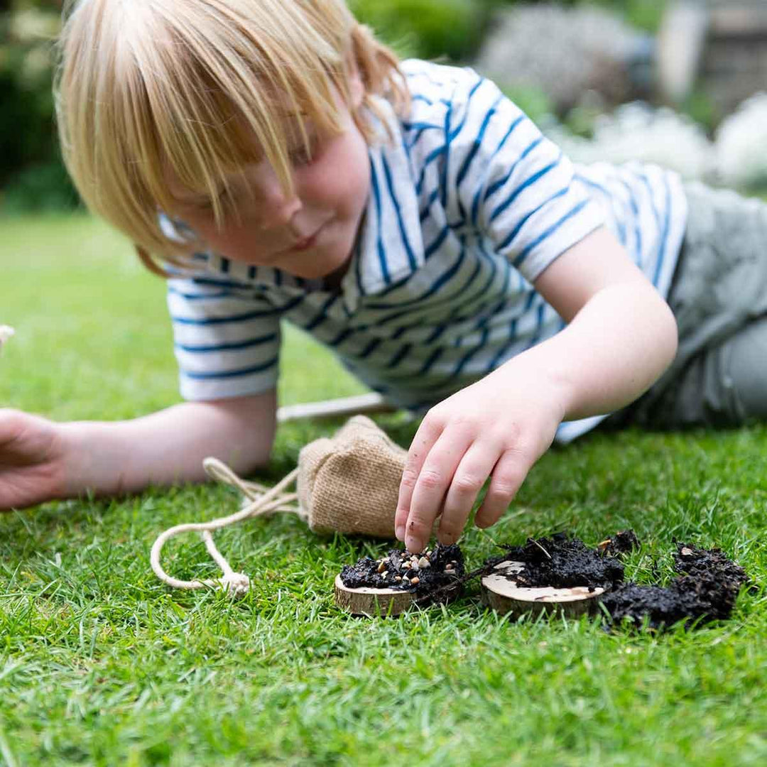
[{"label": "green grass lawn the child is lying on", "polygon": [[[85,217],[0,222],[0,404],[55,419],[173,403],[163,285]],[[311,370],[311,374],[306,374]],[[360,391],[287,337],[281,401]],[[380,423],[407,444],[415,426]],[[273,481],[339,423],[281,428]],[[512,510],[463,546],[632,527],[627,574],[671,571],[672,538],[721,545],[755,578],[732,620],[662,636],[597,621],[509,621],[476,587],[446,608],[364,621],[333,605],[347,562],[386,543],[318,538],[297,518],[217,536],[252,576],[244,600],[170,591],[150,571],[164,528],[232,512],[203,486],[0,518],[0,763],[8,765],[759,765],[767,759],[767,430],[596,434],[552,451]],[[213,574],[189,536],[166,559]],[[657,569],[656,569],[657,565]]]}]

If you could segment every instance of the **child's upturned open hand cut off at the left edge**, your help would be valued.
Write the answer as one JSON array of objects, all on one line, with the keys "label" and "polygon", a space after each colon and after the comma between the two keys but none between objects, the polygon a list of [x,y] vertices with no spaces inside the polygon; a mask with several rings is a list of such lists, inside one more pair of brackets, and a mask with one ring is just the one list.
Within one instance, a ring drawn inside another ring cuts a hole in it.
[{"label": "child's upturned open hand cut off at the left edge", "polygon": [[0,409],[0,511],[60,497],[64,493],[64,448],[57,424]]}]

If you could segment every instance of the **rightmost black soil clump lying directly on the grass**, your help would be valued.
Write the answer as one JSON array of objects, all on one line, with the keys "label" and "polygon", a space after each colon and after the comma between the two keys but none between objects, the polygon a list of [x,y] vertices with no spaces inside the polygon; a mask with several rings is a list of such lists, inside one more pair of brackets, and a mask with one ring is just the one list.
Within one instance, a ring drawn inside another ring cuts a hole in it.
[{"label": "rightmost black soil clump lying directly on the grass", "polygon": [[662,629],[685,621],[686,626],[729,618],[738,592],[748,577],[718,548],[678,545],[674,556],[681,573],[666,587],[627,583],[601,597],[614,624],[630,621]]}]

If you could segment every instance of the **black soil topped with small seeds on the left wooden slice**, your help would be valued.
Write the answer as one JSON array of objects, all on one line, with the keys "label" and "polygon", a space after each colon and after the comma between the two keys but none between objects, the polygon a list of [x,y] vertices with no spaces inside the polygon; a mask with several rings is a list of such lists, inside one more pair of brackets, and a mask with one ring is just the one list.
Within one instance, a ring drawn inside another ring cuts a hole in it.
[{"label": "black soil topped with small seeds on the left wooden slice", "polygon": [[380,559],[363,557],[355,565],[344,565],[341,582],[347,588],[411,591],[423,602],[431,596],[436,601],[446,601],[459,590],[464,574],[466,568],[459,546],[437,544],[421,554],[393,548]]}]

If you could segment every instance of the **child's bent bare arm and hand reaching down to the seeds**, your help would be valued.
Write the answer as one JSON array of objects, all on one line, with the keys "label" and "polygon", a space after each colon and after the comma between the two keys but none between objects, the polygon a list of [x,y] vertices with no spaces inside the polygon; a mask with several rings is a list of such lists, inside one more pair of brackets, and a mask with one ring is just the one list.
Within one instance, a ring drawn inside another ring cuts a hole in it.
[{"label": "child's bent bare arm and hand reaching down to the seeds", "polygon": [[455,542],[491,474],[476,524],[495,523],[562,420],[624,407],[676,354],[673,314],[605,229],[559,256],[535,288],[570,324],[427,413],[397,505],[410,551],[424,548],[440,513],[439,540]]}]

